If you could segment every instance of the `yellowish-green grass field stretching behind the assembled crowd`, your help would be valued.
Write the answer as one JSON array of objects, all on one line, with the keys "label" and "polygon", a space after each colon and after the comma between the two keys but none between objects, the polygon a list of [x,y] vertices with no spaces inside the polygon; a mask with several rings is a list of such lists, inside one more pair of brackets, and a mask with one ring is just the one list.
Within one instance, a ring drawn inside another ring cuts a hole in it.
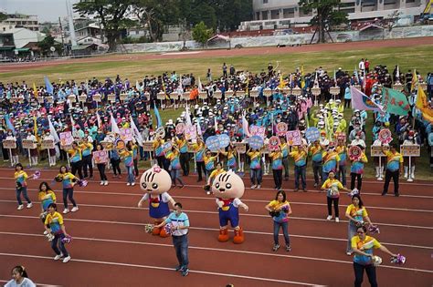
[{"label": "yellowish-green grass field stretching behind the assembled crowd", "polygon": [[[416,68],[421,73],[422,77],[426,77],[427,73],[433,72],[433,46],[408,46],[408,47],[389,47],[377,48],[368,50],[351,50],[343,52],[313,52],[313,53],[291,53],[284,55],[266,55],[266,56],[221,56],[212,58],[183,58],[183,59],[158,59],[145,61],[114,61],[100,63],[73,63],[69,65],[61,65],[58,67],[43,67],[35,69],[26,69],[13,73],[3,73],[0,75],[0,81],[21,82],[26,80],[27,83],[36,82],[37,85],[43,85],[43,77],[48,76],[51,81],[58,79],[76,81],[86,80],[92,77],[116,77],[121,75],[122,78],[128,77],[132,83],[136,79],[143,78],[145,75],[160,75],[163,72],[176,71],[178,74],[194,73],[195,76],[205,78],[207,68],[211,68],[213,77],[219,77],[222,73],[221,66],[223,62],[227,65],[233,64],[237,70],[248,70],[253,73],[259,73],[262,69],[266,69],[269,62],[276,65],[276,61],[280,61],[278,67],[284,74],[293,71],[296,67],[304,66],[305,73],[313,71],[314,68],[322,66],[327,69],[330,74],[333,74],[333,69],[343,67],[343,70],[352,72],[354,67],[357,67],[361,57],[368,57],[371,65],[386,65],[390,71],[396,64],[399,65],[400,71],[407,72],[407,69]],[[165,109],[160,111],[164,120],[169,118],[178,118],[182,109]],[[350,118],[350,113],[345,113],[345,118]],[[371,128],[373,125],[373,117],[369,114],[366,126],[366,143],[369,146],[371,142]],[[368,148],[367,148],[368,149]],[[369,155],[369,150],[367,150]],[[375,170],[373,159],[369,158],[369,163],[365,168],[365,177],[374,177]],[[40,164],[44,165],[44,162]],[[141,162],[141,166],[149,166],[149,162]],[[292,164],[290,164],[292,167]],[[309,168],[309,172],[312,170]],[[290,175],[293,170],[290,168]],[[422,157],[417,159],[417,179],[430,179],[431,169],[429,168],[429,155],[425,148],[422,149]]]}]

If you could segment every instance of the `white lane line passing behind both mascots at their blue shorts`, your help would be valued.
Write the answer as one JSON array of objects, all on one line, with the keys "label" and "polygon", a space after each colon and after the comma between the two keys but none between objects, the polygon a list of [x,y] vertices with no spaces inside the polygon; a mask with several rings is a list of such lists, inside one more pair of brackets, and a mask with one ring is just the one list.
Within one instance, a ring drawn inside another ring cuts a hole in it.
[{"label": "white lane line passing behind both mascots at their blue shorts", "polygon": [[[16,200],[0,200],[0,202],[5,203],[16,203]],[[33,203],[40,203],[40,201],[32,201]],[[86,204],[80,203],[79,206],[87,206],[93,208],[100,209],[121,209],[121,210],[149,210],[149,208],[138,208],[135,206],[119,206],[119,205],[100,205],[100,204]],[[185,212],[190,213],[205,213],[205,214],[218,214],[217,211],[206,211],[206,210],[185,210]],[[254,214],[254,213],[239,213],[241,216],[249,216],[249,217],[260,217],[260,218],[269,218],[269,215],[264,214]],[[314,219],[308,217],[296,217],[290,216],[290,220],[312,220],[312,221],[328,221],[322,219]],[[340,220],[340,222],[348,223],[348,220]],[[384,222],[374,222],[379,226],[392,226],[392,227],[404,227],[404,228],[414,228],[414,229],[423,229],[423,230],[433,230],[433,227],[429,226],[417,226],[417,225],[406,225],[406,224],[394,224],[394,223],[384,223]]]}]

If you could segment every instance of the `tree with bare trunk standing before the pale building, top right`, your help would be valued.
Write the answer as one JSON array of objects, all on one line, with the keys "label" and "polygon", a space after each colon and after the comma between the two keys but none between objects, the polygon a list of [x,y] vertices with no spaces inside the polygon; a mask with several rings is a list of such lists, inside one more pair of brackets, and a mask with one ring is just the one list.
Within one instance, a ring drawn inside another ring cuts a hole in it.
[{"label": "tree with bare trunk standing before the pale building, top right", "polygon": [[347,14],[340,11],[341,0],[300,0],[304,14],[314,12],[311,24],[318,27],[319,43],[325,42],[325,31],[331,26],[347,22]]}]

